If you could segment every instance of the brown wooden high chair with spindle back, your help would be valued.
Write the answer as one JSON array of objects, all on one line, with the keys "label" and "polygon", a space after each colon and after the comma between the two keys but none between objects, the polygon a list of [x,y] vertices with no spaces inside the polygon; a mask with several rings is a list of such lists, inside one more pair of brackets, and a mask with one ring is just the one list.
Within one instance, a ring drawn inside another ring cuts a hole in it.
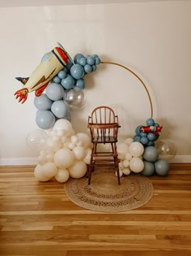
[{"label": "brown wooden high chair with spindle back", "polygon": [[[88,128],[91,133],[91,161],[87,172],[88,184],[91,184],[91,173],[94,171],[96,166],[108,166],[112,164],[117,171],[117,180],[120,184],[120,173],[117,159],[117,134],[118,128],[118,117],[115,115],[112,108],[108,106],[98,106],[92,112],[91,116],[88,117]],[[97,150],[98,144],[110,144],[109,150]]]}]

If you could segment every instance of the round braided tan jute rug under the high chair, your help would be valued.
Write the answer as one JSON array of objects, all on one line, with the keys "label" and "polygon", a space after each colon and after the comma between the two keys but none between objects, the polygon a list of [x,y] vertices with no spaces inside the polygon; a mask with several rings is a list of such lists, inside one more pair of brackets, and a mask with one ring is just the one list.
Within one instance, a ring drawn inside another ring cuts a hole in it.
[{"label": "round braided tan jute rug under the high chair", "polygon": [[96,170],[92,173],[91,184],[87,177],[68,180],[64,184],[66,196],[75,205],[89,210],[120,212],[133,210],[145,205],[153,195],[153,186],[146,176],[130,174],[121,177],[113,170]]}]

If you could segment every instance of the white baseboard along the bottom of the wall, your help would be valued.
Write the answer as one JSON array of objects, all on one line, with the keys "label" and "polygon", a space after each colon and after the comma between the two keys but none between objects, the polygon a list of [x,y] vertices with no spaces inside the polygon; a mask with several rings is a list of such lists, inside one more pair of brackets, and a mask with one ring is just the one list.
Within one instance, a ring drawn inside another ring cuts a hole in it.
[{"label": "white baseboard along the bottom of the wall", "polygon": [[[191,155],[176,155],[169,163],[191,163]],[[37,158],[0,158],[0,166],[4,165],[37,165]]]}]

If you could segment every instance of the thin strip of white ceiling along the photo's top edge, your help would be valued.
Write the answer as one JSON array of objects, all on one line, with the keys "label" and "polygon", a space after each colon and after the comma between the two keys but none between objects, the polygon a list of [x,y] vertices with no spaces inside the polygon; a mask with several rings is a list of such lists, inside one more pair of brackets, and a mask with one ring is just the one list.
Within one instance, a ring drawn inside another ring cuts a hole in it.
[{"label": "thin strip of white ceiling along the photo's top edge", "polygon": [[[0,7],[43,7],[128,2],[168,2],[173,0],[0,0]],[[181,0],[179,0],[181,1]]]}]

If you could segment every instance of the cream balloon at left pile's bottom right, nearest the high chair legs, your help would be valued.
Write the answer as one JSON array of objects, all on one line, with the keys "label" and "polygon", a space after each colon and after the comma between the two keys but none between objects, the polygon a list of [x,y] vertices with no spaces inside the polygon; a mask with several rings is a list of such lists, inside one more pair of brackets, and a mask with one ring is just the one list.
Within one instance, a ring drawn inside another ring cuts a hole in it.
[{"label": "cream balloon at left pile's bottom right, nearest the high chair legs", "polygon": [[82,178],[87,172],[87,165],[83,161],[76,161],[69,169],[70,176],[72,178]]}]

